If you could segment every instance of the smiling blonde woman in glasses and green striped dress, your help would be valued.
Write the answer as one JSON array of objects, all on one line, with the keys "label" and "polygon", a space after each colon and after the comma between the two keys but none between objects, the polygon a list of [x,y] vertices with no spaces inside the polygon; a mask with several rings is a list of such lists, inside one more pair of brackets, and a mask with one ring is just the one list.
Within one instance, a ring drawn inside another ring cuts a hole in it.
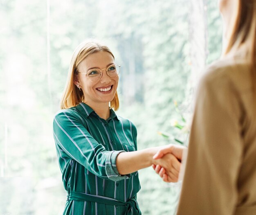
[{"label": "smiling blonde woman in glasses and green striped dress", "polygon": [[[117,116],[120,65],[107,46],[86,41],[74,51],[53,132],[67,202],[64,215],[138,215],[137,170],[160,164],[177,181],[182,149],[160,160],[161,148],[137,150],[137,130]],[[114,109],[114,110],[113,110]]]}]

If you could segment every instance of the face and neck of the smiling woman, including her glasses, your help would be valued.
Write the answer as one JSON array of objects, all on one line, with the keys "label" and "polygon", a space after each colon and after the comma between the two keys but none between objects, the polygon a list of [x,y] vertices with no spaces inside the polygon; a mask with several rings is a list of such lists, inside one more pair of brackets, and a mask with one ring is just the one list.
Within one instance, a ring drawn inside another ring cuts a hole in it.
[{"label": "face and neck of the smiling woman, including her glasses", "polygon": [[108,102],[117,97],[119,77],[114,66],[114,57],[109,51],[92,53],[79,64],[74,78],[74,84],[83,90],[84,102],[100,116],[105,114],[102,118],[108,118],[102,111],[108,112]]}]

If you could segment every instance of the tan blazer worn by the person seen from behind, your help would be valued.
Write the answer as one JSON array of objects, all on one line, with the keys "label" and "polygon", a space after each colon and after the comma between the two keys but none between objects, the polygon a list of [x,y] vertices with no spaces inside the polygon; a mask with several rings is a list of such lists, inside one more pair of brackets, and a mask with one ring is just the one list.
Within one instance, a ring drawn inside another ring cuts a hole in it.
[{"label": "tan blazer worn by the person seen from behind", "polygon": [[177,215],[256,215],[255,114],[245,60],[211,65],[198,87]]}]

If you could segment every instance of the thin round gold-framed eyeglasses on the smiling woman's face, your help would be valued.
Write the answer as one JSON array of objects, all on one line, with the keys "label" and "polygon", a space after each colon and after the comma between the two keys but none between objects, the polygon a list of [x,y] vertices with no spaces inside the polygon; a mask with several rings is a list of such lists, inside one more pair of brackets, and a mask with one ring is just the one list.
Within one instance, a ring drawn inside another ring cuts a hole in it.
[{"label": "thin round gold-framed eyeglasses on the smiling woman's face", "polygon": [[[102,70],[105,70],[105,69],[102,69]],[[89,70],[87,73],[85,72],[78,72],[78,73],[87,75],[88,79],[92,82],[97,82],[102,77],[102,72],[101,72],[102,70],[95,68],[95,69]],[[106,68],[106,72],[110,78],[115,78],[119,75],[120,65],[112,64],[108,68]]]}]

